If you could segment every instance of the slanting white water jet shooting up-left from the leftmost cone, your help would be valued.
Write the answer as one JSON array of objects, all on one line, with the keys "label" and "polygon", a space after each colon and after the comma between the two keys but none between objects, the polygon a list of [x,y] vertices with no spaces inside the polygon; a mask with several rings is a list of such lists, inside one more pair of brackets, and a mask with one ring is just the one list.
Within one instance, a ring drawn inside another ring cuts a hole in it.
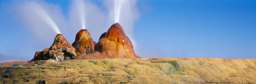
[{"label": "slanting white water jet shooting up-left from the leftmost cone", "polygon": [[43,7],[39,5],[37,2],[27,2],[24,6],[25,6],[25,9],[31,11],[27,13],[31,13],[32,15],[37,15],[38,19],[42,20],[47,25],[49,25],[56,33],[61,33],[61,31],[59,31],[57,24],[55,24],[55,22],[47,14],[45,9],[43,9]]}]

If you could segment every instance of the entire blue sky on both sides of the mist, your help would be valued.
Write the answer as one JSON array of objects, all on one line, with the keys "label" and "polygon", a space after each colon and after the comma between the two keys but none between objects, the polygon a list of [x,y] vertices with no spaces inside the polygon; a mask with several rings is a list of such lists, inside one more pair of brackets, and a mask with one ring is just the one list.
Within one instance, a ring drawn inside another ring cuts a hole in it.
[{"label": "entire blue sky on both sides of the mist", "polygon": [[[19,26],[17,17],[11,17],[15,12],[3,12],[2,4],[10,2],[1,0],[0,53],[10,60],[30,60],[35,51],[50,45],[39,44],[31,31]],[[70,1],[44,2],[58,5],[67,17]],[[101,0],[90,2],[106,11]],[[135,52],[143,58],[256,58],[256,1],[139,0],[137,7]]]}]

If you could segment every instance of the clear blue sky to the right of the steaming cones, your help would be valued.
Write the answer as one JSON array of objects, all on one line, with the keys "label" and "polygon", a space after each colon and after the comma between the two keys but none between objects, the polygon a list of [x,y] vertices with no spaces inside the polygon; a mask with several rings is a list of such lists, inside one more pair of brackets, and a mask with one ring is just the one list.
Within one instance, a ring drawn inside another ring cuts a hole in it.
[{"label": "clear blue sky to the right of the steaming cones", "polygon": [[[255,1],[151,1],[150,6],[136,23],[137,41],[163,50],[162,57],[256,57]],[[150,39],[154,42],[144,42]]]}]

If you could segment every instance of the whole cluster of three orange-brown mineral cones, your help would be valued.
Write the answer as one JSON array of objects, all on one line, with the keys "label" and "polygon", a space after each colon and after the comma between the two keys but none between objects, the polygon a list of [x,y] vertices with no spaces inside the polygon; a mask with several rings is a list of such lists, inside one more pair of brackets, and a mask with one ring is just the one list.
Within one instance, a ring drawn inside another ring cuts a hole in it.
[{"label": "whole cluster of three orange-brown mineral cones", "polygon": [[[96,52],[94,52],[96,51]],[[77,56],[78,55],[78,56]],[[91,39],[90,32],[80,30],[71,45],[62,34],[58,34],[50,48],[36,52],[33,60],[55,62],[71,59],[97,58],[141,58],[135,54],[133,44],[125,35],[119,23],[113,24],[107,32],[102,33],[97,44]]]}]

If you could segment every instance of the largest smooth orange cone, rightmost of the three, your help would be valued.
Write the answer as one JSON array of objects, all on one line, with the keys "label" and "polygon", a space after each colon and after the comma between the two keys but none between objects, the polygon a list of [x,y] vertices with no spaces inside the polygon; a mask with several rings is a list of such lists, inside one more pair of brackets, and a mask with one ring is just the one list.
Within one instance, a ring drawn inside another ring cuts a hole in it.
[{"label": "largest smooth orange cone, rightmost of the three", "polygon": [[133,44],[119,23],[113,24],[107,32],[102,33],[94,49],[111,58],[140,58],[133,51]]}]

